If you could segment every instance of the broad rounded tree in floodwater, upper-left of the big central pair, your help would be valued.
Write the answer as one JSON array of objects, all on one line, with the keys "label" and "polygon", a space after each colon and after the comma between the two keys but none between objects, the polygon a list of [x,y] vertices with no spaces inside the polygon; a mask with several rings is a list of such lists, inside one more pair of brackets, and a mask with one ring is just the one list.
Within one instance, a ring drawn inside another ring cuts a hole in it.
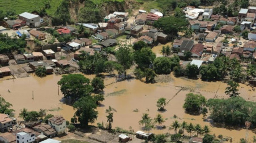
[{"label": "broad rounded tree in floodwater, upper-left of the big central pair", "polygon": [[72,102],[80,97],[89,96],[92,92],[90,80],[82,74],[62,75],[58,84],[61,86],[61,92],[65,99],[70,99]]}]

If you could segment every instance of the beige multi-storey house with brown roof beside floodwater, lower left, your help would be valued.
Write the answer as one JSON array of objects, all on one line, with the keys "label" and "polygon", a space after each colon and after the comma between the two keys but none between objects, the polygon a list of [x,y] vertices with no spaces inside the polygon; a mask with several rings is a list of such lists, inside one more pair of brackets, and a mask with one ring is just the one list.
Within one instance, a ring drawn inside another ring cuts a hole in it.
[{"label": "beige multi-storey house with brown roof beside floodwater, lower left", "polygon": [[54,116],[48,119],[48,124],[52,126],[58,135],[66,133],[66,120],[62,116]]}]

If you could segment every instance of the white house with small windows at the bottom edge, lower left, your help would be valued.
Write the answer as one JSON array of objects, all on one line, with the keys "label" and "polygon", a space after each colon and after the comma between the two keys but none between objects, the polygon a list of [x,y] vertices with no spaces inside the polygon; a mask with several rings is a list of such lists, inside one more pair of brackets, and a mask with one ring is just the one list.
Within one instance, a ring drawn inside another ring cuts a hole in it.
[{"label": "white house with small windows at the bottom edge, lower left", "polygon": [[19,132],[16,134],[16,143],[29,143],[36,140],[35,134]]}]

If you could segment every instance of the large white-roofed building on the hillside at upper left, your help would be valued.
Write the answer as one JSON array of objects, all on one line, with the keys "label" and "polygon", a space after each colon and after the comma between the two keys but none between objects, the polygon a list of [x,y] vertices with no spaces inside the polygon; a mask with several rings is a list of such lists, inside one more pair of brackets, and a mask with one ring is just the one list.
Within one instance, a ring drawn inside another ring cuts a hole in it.
[{"label": "large white-roofed building on the hillside at upper left", "polygon": [[19,15],[19,19],[26,22],[26,25],[31,27],[39,27],[40,26],[40,16],[30,14],[28,12],[24,12]]}]

